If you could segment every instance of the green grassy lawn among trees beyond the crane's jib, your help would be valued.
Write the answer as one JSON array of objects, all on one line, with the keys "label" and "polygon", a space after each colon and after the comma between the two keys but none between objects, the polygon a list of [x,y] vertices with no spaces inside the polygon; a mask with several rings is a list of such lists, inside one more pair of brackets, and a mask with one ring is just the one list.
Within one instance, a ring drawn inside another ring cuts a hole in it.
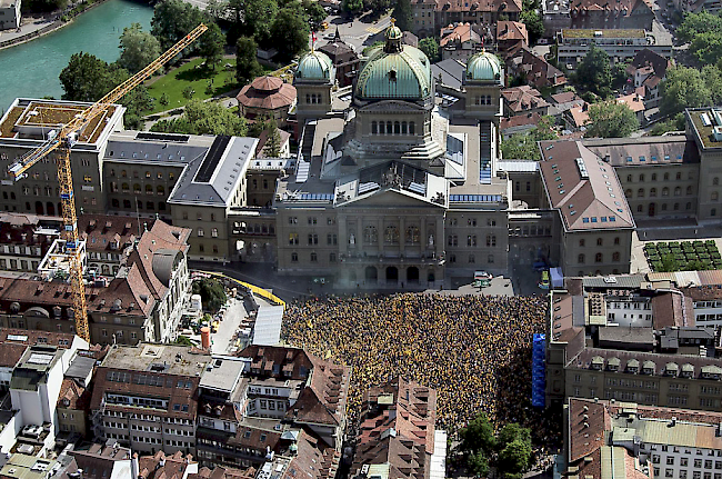
[{"label": "green grassy lawn among trees beyond the crane's jib", "polygon": [[[156,99],[156,107],[144,113],[151,114],[185,106],[188,99],[183,97],[183,90],[188,87],[195,90],[193,98],[201,100],[238,88],[235,59],[223,59],[223,62],[215,67],[215,71],[200,67],[202,62],[202,58],[193,59],[182,67],[171,70],[148,87],[148,92]],[[223,64],[227,63],[231,64],[228,69],[223,68]],[[211,81],[212,90],[208,90],[208,84]],[[160,97],[163,93],[168,94],[169,100],[166,106],[160,104]]]}]

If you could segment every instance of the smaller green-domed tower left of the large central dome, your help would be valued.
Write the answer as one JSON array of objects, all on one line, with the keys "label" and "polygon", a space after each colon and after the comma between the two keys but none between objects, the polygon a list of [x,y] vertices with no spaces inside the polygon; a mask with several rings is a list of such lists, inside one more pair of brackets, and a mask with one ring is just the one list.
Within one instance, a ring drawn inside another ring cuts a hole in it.
[{"label": "smaller green-domed tower left of the large central dome", "polygon": [[299,59],[293,78],[298,94],[297,118],[302,128],[308,120],[317,120],[331,111],[331,91],[335,68],[323,52],[311,50]]}]

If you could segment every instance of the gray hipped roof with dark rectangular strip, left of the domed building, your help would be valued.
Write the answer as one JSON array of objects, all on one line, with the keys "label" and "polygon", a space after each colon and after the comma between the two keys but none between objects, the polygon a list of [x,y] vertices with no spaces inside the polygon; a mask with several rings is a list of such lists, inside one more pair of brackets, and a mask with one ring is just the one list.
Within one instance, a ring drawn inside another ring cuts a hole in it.
[{"label": "gray hipped roof with dark rectangular strip, left of the domed building", "polygon": [[214,148],[223,137],[217,137],[208,154],[192,159],[178,179],[169,203],[229,206],[250,161],[255,154],[257,138],[231,137],[222,151]]}]

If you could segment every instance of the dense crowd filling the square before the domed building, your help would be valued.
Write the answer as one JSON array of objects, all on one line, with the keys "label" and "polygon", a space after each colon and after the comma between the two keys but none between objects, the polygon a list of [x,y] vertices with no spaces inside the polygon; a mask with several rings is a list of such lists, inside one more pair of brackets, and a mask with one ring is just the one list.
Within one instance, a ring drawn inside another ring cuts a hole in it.
[{"label": "dense crowd filling the square before the domed building", "polygon": [[363,391],[393,377],[438,391],[438,426],[457,430],[479,410],[497,426],[532,426],[531,345],[544,332],[544,297],[399,293],[313,298],[289,303],[283,338],[352,368],[351,423]]}]

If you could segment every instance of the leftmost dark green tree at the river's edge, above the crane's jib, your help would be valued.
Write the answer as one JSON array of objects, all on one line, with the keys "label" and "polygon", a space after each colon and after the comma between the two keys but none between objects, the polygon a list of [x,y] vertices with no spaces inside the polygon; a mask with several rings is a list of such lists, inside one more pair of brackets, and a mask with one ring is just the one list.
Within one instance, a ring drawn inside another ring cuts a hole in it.
[{"label": "leftmost dark green tree at the river's edge, above the crane's jib", "polygon": [[97,101],[112,90],[118,81],[119,69],[90,53],[73,53],[68,66],[60,72],[63,100]]}]

